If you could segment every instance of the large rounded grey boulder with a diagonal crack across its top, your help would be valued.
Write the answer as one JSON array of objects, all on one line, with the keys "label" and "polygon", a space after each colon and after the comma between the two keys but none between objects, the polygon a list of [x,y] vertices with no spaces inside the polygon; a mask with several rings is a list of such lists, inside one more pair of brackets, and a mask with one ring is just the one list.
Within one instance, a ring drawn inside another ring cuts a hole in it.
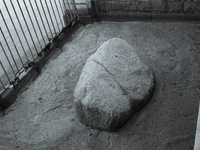
[{"label": "large rounded grey boulder with a diagonal crack across its top", "polygon": [[154,75],[134,48],[114,38],[86,61],[74,89],[82,123],[100,130],[119,129],[150,99]]}]

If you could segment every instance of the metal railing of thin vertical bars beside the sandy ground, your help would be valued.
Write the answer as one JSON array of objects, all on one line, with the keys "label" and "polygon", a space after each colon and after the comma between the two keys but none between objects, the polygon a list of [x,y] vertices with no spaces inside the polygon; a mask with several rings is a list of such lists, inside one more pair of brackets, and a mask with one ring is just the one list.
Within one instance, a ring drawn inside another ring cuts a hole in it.
[{"label": "metal railing of thin vertical bars beside the sandy ground", "polygon": [[73,0],[0,0],[0,94],[14,87],[77,17]]}]

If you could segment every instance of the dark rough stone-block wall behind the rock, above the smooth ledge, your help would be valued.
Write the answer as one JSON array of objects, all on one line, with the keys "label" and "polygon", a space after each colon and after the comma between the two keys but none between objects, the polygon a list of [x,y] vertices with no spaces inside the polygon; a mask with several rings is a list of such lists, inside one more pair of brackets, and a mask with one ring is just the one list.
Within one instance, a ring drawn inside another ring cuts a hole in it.
[{"label": "dark rough stone-block wall behind the rock, above the smooth ledge", "polygon": [[92,0],[100,12],[200,13],[200,0]]}]

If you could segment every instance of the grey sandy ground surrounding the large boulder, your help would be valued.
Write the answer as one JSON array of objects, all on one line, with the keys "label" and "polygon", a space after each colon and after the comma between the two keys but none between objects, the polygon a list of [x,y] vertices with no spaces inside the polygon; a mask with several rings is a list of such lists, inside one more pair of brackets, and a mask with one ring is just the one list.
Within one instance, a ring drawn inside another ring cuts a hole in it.
[{"label": "grey sandy ground surrounding the large boulder", "polygon": [[[125,39],[156,77],[151,101],[117,132],[78,121],[73,89],[85,60]],[[200,96],[200,24],[99,22],[81,27],[0,118],[0,149],[193,149]]]}]

